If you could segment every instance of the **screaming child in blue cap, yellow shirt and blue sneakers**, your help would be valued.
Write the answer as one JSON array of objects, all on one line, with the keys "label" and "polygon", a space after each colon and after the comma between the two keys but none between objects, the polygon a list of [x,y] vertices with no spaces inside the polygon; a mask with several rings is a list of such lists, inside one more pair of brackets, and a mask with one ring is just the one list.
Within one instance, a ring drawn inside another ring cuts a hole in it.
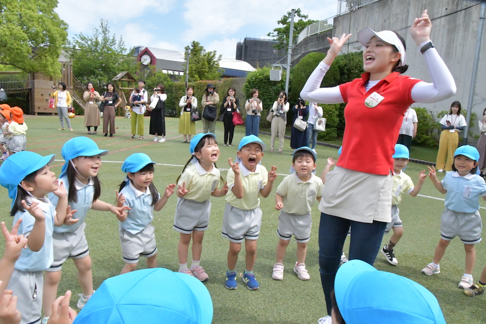
[{"label": "screaming child in blue cap, yellow shirt and blue sneakers", "polygon": [[255,135],[244,136],[238,146],[235,163],[228,159],[231,169],[226,182],[226,207],[223,215],[222,235],[229,239],[228,270],[225,287],[236,289],[236,262],[245,241],[246,268],[243,282],[249,290],[260,288],[253,274],[257,258],[257,239],[260,234],[261,216],[260,195],[268,197],[273,182],[277,178],[277,167],[270,172],[260,164],[266,145]]}]

